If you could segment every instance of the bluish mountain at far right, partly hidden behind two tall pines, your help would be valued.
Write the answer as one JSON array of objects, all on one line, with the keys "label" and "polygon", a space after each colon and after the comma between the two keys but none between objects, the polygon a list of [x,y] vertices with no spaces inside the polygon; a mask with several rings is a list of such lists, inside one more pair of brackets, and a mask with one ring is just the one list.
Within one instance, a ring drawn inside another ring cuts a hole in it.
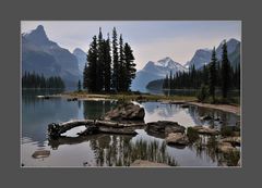
[{"label": "bluish mountain at far right, partly hidden behind two tall pines", "polygon": [[[223,51],[222,46],[223,46],[223,42],[221,42],[218,48],[216,49],[216,58],[218,60],[222,59],[222,51]],[[229,39],[227,41],[227,53],[228,53],[228,59],[229,59],[231,65],[237,64],[236,63],[237,59],[239,59],[239,62],[240,62],[240,41],[238,41],[237,39],[234,39],[234,38]],[[233,53],[235,53],[235,55],[233,55]],[[239,58],[236,57],[237,54],[239,55]],[[199,49],[195,51],[191,61],[187,62],[184,66],[190,67],[190,66],[194,65],[194,67],[196,70],[199,70],[204,64],[210,63],[211,55],[212,55],[212,50]]]}]

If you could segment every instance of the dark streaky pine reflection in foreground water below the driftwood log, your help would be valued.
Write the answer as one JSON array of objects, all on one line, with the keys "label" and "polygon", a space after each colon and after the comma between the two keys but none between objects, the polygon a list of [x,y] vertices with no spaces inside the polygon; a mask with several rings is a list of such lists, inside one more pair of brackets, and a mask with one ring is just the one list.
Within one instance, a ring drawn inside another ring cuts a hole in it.
[{"label": "dark streaky pine reflection in foreground water below the driftwood log", "polygon": [[[107,137],[107,138],[106,138]],[[135,160],[178,165],[166,151],[164,141],[136,140],[131,136],[111,135],[91,140],[97,166],[130,166]]]}]

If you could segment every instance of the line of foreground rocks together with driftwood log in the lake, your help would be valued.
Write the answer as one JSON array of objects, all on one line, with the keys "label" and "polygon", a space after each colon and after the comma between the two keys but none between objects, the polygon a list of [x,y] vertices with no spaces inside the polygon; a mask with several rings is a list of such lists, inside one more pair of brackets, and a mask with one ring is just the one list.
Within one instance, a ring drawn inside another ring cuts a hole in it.
[{"label": "line of foreground rocks together with driftwood log in the lake", "polygon": [[[86,129],[79,133],[80,136],[99,133],[136,135],[135,129],[144,128],[148,135],[165,139],[169,146],[187,146],[192,142],[192,140],[189,139],[191,138],[189,137],[190,135],[186,134],[186,128],[177,122],[158,121],[145,124],[143,122],[144,115],[144,109],[140,105],[124,103],[107,112],[102,120],[84,120],[71,121],[63,124],[49,124],[48,134],[50,137],[57,138],[60,137],[62,133],[82,125],[85,125]],[[204,120],[210,118],[210,116],[206,116]],[[192,130],[196,135],[221,135],[218,129],[206,126],[193,126],[191,127],[191,133]],[[225,137],[218,140],[217,149],[221,152],[229,153],[236,151],[236,146],[240,146],[240,136]]]}]

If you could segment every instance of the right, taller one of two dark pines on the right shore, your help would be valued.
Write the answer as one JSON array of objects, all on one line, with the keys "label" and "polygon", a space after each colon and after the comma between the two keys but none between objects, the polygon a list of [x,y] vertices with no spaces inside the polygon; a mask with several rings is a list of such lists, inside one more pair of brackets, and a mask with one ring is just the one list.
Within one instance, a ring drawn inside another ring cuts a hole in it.
[{"label": "right, taller one of two dark pines on the right shore", "polygon": [[228,97],[229,83],[230,83],[230,63],[227,57],[227,45],[226,40],[223,43],[222,53],[222,95],[226,99]]}]

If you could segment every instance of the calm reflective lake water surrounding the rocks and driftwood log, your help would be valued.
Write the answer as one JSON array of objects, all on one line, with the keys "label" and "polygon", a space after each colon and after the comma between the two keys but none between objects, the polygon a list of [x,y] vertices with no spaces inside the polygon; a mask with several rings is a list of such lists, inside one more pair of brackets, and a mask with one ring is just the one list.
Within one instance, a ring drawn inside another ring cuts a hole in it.
[{"label": "calm reflective lake water surrounding the rocks and driftwood log", "polygon": [[[169,147],[164,139],[150,136],[138,129],[136,136],[93,135],[78,137],[85,127],[76,127],[58,140],[49,140],[47,125],[76,118],[96,118],[117,105],[114,101],[67,101],[62,98],[43,100],[38,95],[60,92],[23,90],[21,162],[25,166],[129,166],[142,159],[178,166],[219,166],[230,163],[212,147]],[[212,127],[234,126],[240,120],[231,113],[204,108],[181,108],[179,104],[144,102],[145,122],[174,121],[184,127],[205,125]],[[202,121],[204,115],[219,121]],[[201,137],[212,146],[214,137]],[[37,150],[49,150],[50,155],[34,159]]]}]

